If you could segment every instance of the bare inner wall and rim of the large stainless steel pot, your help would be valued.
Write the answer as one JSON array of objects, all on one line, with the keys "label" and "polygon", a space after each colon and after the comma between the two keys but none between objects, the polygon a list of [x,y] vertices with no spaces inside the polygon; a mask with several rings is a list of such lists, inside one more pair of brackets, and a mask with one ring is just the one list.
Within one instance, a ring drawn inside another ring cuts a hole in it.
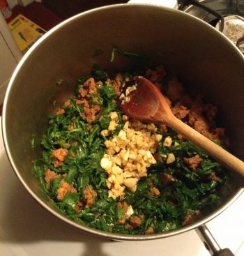
[{"label": "bare inner wall and rim of the large stainless steel pot", "polygon": [[[163,64],[191,91],[202,93],[219,107],[227,128],[231,152],[244,158],[244,58],[232,43],[208,24],[178,10],[142,4],[107,6],[81,13],[49,31],[31,47],[13,74],[3,105],[3,141],[13,170],[26,190],[54,216],[85,232],[109,239],[160,239],[194,229],[224,211],[243,192],[234,176],[225,187],[228,196],[215,211],[181,229],[165,234],[122,235],[98,231],[63,216],[40,190],[32,160],[30,138],[45,133],[52,101],[61,102],[73,91],[75,79],[89,73],[93,63],[110,72],[135,64],[116,57],[112,48],[148,57],[146,63]],[[94,56],[94,51],[104,51]],[[73,80],[56,86],[56,80]]]}]

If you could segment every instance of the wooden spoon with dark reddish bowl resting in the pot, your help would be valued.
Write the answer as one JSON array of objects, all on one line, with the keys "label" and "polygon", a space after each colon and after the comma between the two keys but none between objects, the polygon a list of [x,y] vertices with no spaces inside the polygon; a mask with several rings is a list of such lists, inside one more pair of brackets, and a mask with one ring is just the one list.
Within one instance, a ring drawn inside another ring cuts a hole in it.
[{"label": "wooden spoon with dark reddish bowl resting in the pot", "polygon": [[166,124],[206,151],[218,163],[244,176],[244,162],[177,119],[155,84],[144,77],[136,77],[136,82],[137,90],[131,93],[130,100],[119,104],[126,115],[139,121]]}]

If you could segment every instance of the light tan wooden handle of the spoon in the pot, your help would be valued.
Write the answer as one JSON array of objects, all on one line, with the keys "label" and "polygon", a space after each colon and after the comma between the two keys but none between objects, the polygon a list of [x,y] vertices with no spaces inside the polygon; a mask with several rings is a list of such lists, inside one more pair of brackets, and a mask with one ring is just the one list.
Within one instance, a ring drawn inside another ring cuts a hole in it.
[{"label": "light tan wooden handle of the spoon in the pot", "polygon": [[204,135],[201,135],[175,116],[170,116],[170,118],[167,119],[167,125],[183,135],[186,139],[192,141],[195,145],[199,146],[199,148],[206,151],[210,156],[217,160],[218,163],[224,165],[224,167],[235,170],[244,176],[244,162],[224,150],[221,146],[218,146],[218,144],[215,144],[204,137]]}]

